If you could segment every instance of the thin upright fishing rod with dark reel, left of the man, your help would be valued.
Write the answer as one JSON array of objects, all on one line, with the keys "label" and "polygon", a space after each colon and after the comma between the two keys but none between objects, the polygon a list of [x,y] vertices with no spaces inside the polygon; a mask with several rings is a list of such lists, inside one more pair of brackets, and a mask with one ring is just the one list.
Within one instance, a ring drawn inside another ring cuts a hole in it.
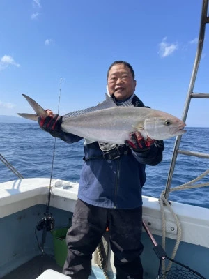
[{"label": "thin upright fishing rod with dark reel, left of the man", "polygon": [[[58,103],[58,111],[57,113],[59,114],[59,105],[60,105],[60,99],[61,99],[61,86],[62,86],[62,78],[60,80],[60,88],[59,88],[59,103]],[[54,169],[54,158],[55,158],[55,150],[56,150],[56,137],[54,138],[54,149],[53,149],[53,155],[52,155],[52,168],[51,168],[51,174],[50,174],[50,181],[49,181],[49,190],[47,193],[47,203],[46,203],[46,211],[44,213],[44,217],[38,222],[36,225],[36,230],[41,231],[42,230],[42,242],[41,242],[41,247],[38,243],[38,248],[40,249],[42,255],[44,254],[44,246],[46,242],[46,237],[47,237],[47,232],[52,231],[55,226],[55,221],[52,216],[52,213],[49,213],[49,208],[50,208],[50,200],[51,200],[51,189],[52,189],[52,175],[53,175],[53,169]],[[36,233],[35,230],[35,233]],[[38,237],[36,235],[36,239],[38,241]]]}]

